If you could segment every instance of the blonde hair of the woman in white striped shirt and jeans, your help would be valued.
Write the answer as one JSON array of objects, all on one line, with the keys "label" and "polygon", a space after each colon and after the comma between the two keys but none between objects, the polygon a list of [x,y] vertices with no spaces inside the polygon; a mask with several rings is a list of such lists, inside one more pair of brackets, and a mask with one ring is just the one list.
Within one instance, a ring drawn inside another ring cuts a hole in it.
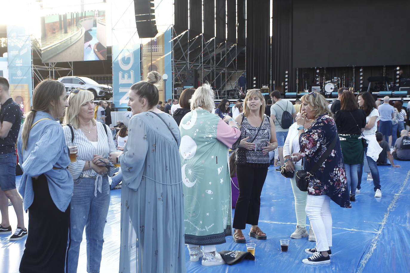
[{"label": "blonde hair of the woman in white striped shirt and jeans", "polygon": [[[83,89],[78,90],[78,93],[70,93],[68,96],[68,107],[66,108],[66,115],[63,120],[63,125],[71,124],[75,129],[80,128],[78,113],[80,113],[81,106],[94,99],[94,95],[91,91]],[[96,125],[96,120],[93,119],[92,123],[93,125]]]}]

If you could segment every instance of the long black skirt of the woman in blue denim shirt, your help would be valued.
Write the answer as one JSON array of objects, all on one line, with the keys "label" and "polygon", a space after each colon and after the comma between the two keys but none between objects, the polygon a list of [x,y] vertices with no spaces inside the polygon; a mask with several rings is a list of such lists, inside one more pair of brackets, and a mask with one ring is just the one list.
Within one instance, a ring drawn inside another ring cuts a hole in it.
[{"label": "long black skirt of the woman in blue denim shirt", "polygon": [[28,236],[20,262],[21,273],[64,273],[70,205],[60,211],[51,199],[45,175],[33,178],[34,200],[28,208]]}]

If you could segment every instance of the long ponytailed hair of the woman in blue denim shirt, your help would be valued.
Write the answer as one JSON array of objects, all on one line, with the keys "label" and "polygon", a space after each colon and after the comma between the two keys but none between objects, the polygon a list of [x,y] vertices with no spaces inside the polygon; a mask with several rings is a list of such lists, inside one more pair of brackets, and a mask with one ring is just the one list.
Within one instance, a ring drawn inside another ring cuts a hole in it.
[{"label": "long ponytailed hair of the woman in blue denim shirt", "polygon": [[[53,111],[60,106],[59,99],[64,92],[64,83],[51,79],[41,81],[37,84],[36,88],[34,88],[32,111],[26,115],[23,129],[21,131],[23,150],[27,147],[28,135],[34,117],[36,116],[36,111],[43,111],[52,115]],[[50,102],[54,102],[55,106],[53,107]]]}]

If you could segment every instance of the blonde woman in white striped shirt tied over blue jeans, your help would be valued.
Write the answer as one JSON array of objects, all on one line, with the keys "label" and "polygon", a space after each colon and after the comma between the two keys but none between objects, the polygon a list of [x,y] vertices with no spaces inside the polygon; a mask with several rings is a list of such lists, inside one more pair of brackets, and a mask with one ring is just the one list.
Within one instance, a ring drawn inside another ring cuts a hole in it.
[{"label": "blonde woman in white striped shirt tied over blue jeans", "polygon": [[64,137],[67,146],[77,146],[78,152],[77,161],[68,166],[74,180],[74,192],[67,272],[77,271],[84,226],[87,226],[87,271],[99,272],[109,205],[107,174],[112,175],[116,171],[109,165],[107,157],[116,148],[109,127],[93,118],[93,94],[90,91],[73,89],[68,96],[68,104]]}]

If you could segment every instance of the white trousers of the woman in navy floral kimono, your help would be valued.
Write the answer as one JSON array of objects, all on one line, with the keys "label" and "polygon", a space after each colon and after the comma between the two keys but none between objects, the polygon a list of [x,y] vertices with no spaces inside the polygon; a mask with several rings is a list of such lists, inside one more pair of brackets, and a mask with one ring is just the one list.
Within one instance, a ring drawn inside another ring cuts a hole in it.
[{"label": "white trousers of the woman in navy floral kimono", "polygon": [[316,237],[316,250],[327,251],[332,246],[332,214],[330,197],[307,195],[306,214]]}]

